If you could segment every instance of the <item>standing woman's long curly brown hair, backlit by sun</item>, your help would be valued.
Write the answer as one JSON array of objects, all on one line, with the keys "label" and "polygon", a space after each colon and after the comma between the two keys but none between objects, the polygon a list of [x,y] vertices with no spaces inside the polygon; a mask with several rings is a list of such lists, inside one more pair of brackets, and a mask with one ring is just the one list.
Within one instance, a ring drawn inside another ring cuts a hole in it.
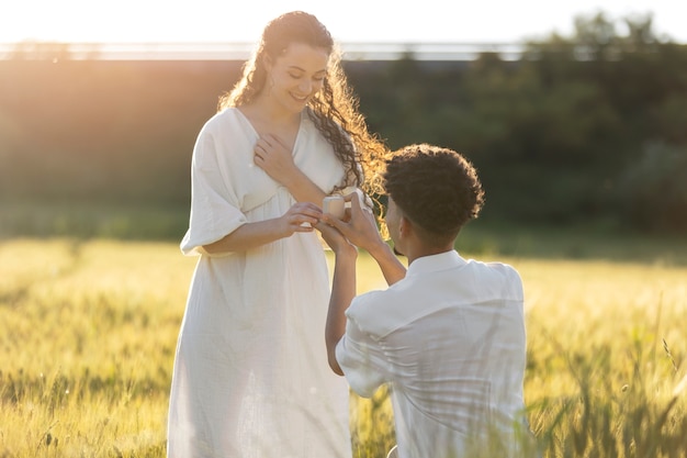
[{"label": "standing woman's long curly brown hair, backlit by sun", "polygon": [[376,135],[369,132],[364,116],[359,112],[359,100],[344,72],[338,46],[314,15],[292,11],[270,21],[251,58],[244,64],[243,77],[221,97],[218,110],[254,101],[266,87],[264,57],[278,58],[292,43],[324,48],[329,54],[323,87],[309,100],[306,110],[344,164],[344,182],[337,189],[354,186],[367,193],[379,194],[382,189],[380,170],[388,150]]}]

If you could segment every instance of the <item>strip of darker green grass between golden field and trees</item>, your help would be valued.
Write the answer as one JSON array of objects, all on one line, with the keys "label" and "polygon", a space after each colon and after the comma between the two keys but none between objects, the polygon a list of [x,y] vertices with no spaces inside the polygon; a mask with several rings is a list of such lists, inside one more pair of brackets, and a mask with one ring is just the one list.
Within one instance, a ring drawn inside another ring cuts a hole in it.
[{"label": "strip of darker green grass between golden field and trees", "polygon": [[[0,201],[0,239],[57,236],[173,243],[183,236],[188,222],[187,206]],[[487,256],[687,265],[685,235],[646,236],[598,221],[529,227],[478,219],[463,230],[459,244],[461,250]]]}]

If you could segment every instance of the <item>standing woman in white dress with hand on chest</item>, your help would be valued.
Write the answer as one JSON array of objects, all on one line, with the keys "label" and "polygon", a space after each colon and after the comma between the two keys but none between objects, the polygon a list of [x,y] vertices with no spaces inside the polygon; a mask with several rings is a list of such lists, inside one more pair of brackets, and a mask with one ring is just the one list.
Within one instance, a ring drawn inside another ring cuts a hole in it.
[{"label": "standing woman in white dress with hand on chest", "polygon": [[325,26],[304,12],[271,21],[193,150],[181,249],[200,259],[174,360],[170,458],[351,456],[311,225],[326,194],[373,191],[365,176],[385,153]]}]

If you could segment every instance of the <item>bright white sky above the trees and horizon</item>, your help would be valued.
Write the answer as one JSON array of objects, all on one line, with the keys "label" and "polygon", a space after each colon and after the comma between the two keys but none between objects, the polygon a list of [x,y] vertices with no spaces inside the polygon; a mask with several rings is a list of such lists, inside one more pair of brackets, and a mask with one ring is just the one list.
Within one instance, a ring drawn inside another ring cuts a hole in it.
[{"label": "bright white sky above the trees and horizon", "polygon": [[575,16],[604,12],[652,13],[655,33],[687,44],[685,0],[3,0],[0,43],[256,42],[291,10],[315,14],[341,43],[520,43],[570,36]]}]

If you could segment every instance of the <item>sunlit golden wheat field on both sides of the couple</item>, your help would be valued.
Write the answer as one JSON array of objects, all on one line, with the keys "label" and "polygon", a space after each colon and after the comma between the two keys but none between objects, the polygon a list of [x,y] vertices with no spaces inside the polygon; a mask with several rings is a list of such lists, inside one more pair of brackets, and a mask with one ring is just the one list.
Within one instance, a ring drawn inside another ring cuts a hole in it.
[{"label": "sunlit golden wheat field on both sides of the couple", "polygon": [[[525,282],[525,395],[543,457],[687,457],[687,265],[498,259]],[[173,243],[0,242],[0,458],[165,456],[194,262]],[[376,288],[361,254],[359,289]],[[384,457],[386,393],[351,396],[351,413],[353,456]]]}]

